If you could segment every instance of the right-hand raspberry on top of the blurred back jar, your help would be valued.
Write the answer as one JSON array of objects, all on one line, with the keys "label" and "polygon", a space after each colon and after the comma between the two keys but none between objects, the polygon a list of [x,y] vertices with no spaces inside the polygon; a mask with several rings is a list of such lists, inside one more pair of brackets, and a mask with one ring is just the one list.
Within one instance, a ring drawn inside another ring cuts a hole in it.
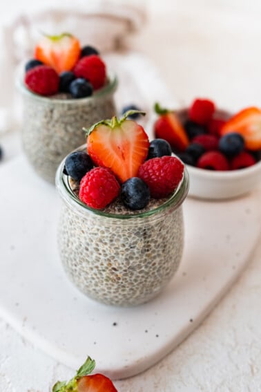
[{"label": "right-hand raspberry on top of the blurred back jar", "polygon": [[76,77],[84,77],[94,90],[104,86],[106,82],[106,66],[98,55],[85,56],[79,59],[73,69]]}]

